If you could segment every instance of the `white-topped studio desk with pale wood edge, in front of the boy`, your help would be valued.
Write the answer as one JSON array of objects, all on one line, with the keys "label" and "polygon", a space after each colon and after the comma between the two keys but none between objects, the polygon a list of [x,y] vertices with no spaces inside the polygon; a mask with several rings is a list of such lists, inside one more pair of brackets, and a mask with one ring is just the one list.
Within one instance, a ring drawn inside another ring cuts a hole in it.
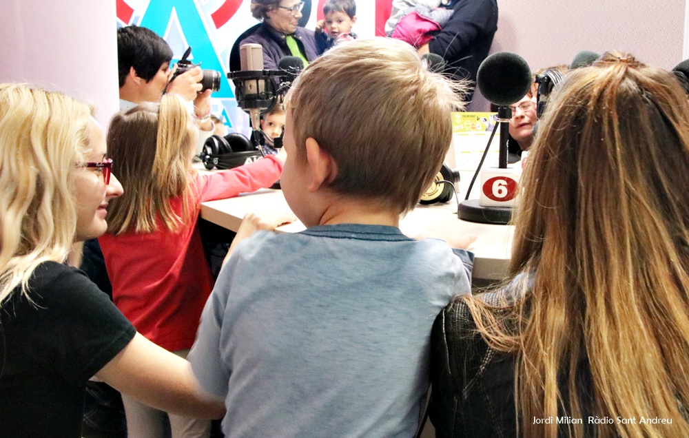
[{"label": "white-topped studio desk with pale wood edge, in front of the boy", "polygon": [[[250,211],[289,211],[281,190],[260,189],[236,198],[214,200],[201,204],[201,218],[220,227],[237,231],[244,215]],[[407,236],[415,236],[430,226],[444,227],[451,232],[471,233],[477,239],[469,250],[475,254],[473,285],[486,286],[499,282],[507,272],[513,227],[466,222],[457,218],[455,200],[445,204],[418,205],[400,221]],[[278,227],[276,231],[295,233],[305,229],[301,222]]]}]

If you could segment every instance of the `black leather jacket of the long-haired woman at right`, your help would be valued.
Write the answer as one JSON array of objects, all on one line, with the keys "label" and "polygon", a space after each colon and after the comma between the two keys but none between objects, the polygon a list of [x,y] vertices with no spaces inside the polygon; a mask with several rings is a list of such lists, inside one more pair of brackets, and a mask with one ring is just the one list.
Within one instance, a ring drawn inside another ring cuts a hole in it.
[{"label": "black leather jacket of the long-haired woman at right", "polygon": [[438,438],[515,436],[514,358],[489,348],[475,328],[461,300],[435,318],[429,418]]}]

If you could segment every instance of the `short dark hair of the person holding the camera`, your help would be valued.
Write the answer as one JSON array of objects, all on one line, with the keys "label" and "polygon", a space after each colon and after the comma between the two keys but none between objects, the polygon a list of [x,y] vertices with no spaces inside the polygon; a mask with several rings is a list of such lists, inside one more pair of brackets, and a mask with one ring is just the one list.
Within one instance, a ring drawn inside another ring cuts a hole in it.
[{"label": "short dark hair of the person holding the camera", "polygon": [[127,26],[117,30],[117,66],[119,86],[134,67],[136,74],[145,81],[156,76],[163,63],[172,61],[172,49],[156,32],[139,26]]}]

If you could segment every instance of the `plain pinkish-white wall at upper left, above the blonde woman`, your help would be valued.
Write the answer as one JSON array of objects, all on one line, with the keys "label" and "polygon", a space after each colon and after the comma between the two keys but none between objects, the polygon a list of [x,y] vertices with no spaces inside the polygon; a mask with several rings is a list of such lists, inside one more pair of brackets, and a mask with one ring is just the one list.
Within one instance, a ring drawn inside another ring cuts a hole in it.
[{"label": "plain pinkish-white wall at upper left, above the blonde woman", "polygon": [[118,111],[114,0],[1,0],[0,82],[30,82]]}]

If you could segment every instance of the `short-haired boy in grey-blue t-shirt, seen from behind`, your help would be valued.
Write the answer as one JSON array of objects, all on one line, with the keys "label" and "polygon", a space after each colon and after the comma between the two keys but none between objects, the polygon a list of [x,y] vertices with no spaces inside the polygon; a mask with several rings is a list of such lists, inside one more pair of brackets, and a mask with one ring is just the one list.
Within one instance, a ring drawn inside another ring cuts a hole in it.
[{"label": "short-haired boy in grey-blue t-shirt, seen from behind", "polygon": [[280,183],[307,229],[243,240],[284,220],[245,217],[189,353],[226,400],[226,437],[414,435],[433,319],[470,293],[473,257],[399,220],[442,165],[457,87],[381,38],[332,48],[293,85]]}]

